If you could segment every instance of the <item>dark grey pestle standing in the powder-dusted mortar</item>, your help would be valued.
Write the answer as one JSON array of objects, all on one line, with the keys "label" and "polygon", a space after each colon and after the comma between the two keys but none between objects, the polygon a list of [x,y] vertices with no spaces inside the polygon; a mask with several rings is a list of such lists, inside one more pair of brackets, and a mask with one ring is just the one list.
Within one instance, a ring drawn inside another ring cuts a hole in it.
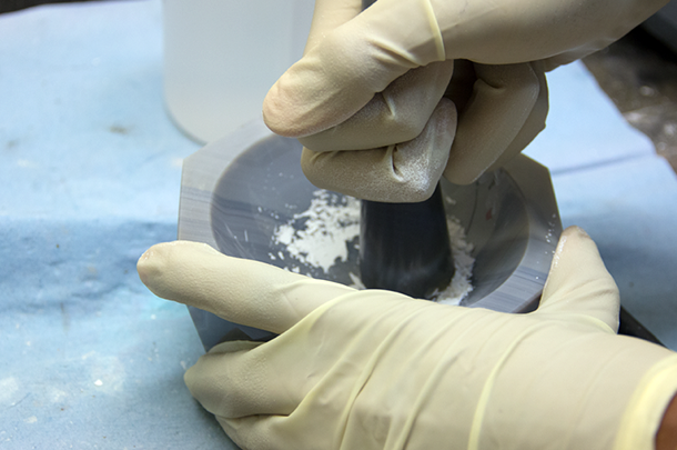
[{"label": "dark grey pestle standing in the powder-dusted mortar", "polygon": [[[375,0],[363,0],[363,10]],[[432,299],[454,274],[439,183],[417,203],[362,200],[360,272],[368,289]]]}]

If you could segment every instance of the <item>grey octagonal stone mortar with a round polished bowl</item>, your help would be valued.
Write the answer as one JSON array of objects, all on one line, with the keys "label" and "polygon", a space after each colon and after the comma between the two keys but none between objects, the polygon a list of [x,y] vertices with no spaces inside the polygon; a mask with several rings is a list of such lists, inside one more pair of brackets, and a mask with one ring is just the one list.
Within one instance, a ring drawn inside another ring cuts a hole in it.
[{"label": "grey octagonal stone mortar with a round polished bowl", "polygon": [[[313,192],[299,163],[295,139],[273,134],[261,120],[216,140],[183,162],[179,239],[205,242],[221,252],[289,263],[272,239],[275,227],[309,208]],[[533,310],[540,297],[562,223],[548,170],[525,156],[468,186],[442,180],[455,204],[447,208],[474,244],[474,290],[462,306],[503,312]],[[280,254],[285,258],[280,258]],[[350,284],[360,273],[357,251],[325,273],[295,261],[300,272]],[[189,308],[205,349],[226,340],[267,340],[274,334]]]}]

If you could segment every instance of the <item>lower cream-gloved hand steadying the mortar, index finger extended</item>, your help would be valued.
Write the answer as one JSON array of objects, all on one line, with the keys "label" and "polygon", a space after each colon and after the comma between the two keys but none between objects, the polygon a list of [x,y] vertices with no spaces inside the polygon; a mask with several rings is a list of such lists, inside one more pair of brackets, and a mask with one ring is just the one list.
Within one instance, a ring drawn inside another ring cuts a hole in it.
[{"label": "lower cream-gloved hand steadying the mortar, index finger extended", "polygon": [[537,311],[507,314],[313,280],[172,242],[139,261],[158,296],[266,329],[185,373],[243,449],[653,448],[677,354],[616,336],[617,288],[577,228]]}]

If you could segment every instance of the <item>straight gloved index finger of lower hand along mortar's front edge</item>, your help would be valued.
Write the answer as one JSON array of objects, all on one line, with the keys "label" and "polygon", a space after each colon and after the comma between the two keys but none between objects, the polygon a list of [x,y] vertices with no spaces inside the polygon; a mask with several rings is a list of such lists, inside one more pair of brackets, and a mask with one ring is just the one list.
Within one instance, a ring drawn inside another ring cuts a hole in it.
[{"label": "straight gloved index finger of lower hand along mortar's front edge", "polygon": [[234,323],[281,333],[320,304],[354,292],[346,286],[226,257],[189,241],[151,247],[137,264],[156,296],[190,304]]}]

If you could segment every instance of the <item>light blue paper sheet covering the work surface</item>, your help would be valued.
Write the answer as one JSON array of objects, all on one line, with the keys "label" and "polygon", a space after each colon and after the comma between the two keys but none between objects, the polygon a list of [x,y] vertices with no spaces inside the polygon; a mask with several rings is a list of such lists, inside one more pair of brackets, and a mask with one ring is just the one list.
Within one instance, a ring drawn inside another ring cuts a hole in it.
[{"label": "light blue paper sheet covering the work surface", "polygon": [[[183,384],[203,351],[186,309],[135,272],[175,238],[181,161],[200,148],[163,109],[160,8],[0,16],[0,448],[230,446]],[[548,128],[527,154],[623,304],[677,349],[675,174],[583,66],[548,79]]]}]

